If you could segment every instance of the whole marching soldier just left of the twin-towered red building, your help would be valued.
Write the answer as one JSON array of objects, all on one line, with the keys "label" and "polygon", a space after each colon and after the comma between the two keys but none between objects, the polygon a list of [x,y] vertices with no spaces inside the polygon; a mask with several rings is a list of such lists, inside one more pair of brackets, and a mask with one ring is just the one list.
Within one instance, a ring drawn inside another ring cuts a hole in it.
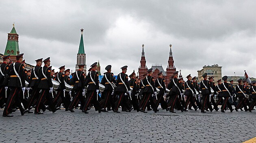
[{"label": "whole marching soldier just left of the twin-towered red building", "polygon": [[129,82],[128,82],[128,75],[126,74],[127,71],[127,65],[124,67],[121,67],[122,72],[117,75],[117,88],[115,90],[115,94],[118,95],[117,101],[115,101],[115,108],[113,109],[114,112],[120,113],[118,111],[119,105],[122,107],[126,107],[129,111],[132,111],[132,107],[129,104],[128,97],[130,92]]}]

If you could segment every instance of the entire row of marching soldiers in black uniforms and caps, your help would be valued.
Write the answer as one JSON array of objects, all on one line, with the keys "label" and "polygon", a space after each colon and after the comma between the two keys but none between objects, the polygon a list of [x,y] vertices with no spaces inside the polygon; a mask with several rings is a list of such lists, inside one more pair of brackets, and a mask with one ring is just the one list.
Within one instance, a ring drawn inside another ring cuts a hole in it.
[{"label": "entire row of marching soldiers in black uniforms and caps", "polygon": [[[148,111],[152,108],[157,112],[160,103],[162,109],[170,112],[175,112],[174,109],[187,111],[192,106],[195,110],[201,109],[203,113],[208,109],[218,111],[217,105],[220,103],[222,112],[225,112],[227,107],[233,111],[229,99],[235,104],[236,111],[242,108],[245,111],[252,111],[256,103],[256,81],[252,81],[252,85],[249,86],[246,80],[239,79],[239,85],[234,88],[232,81],[227,83],[227,76],[224,76],[222,78],[224,82],[221,83],[220,79],[215,86],[213,77],[207,80],[207,74],[204,74],[204,80],[198,86],[195,77],[188,75],[187,82],[184,82],[183,78],[178,79],[178,71],[176,71],[166,88],[162,71],[154,80],[151,76],[152,69],[148,69],[148,74],[144,74],[141,80],[135,76],[135,72],[128,76],[127,66],[124,66],[121,67],[122,72],[115,80],[114,74],[111,73],[111,65],[108,65],[100,84],[96,71],[97,62],[91,65],[87,76],[83,72],[85,65],[78,65],[79,69],[72,73],[73,78],[70,79],[70,70],[65,70],[65,66],[61,66],[60,71],[54,75],[50,66],[50,57],[35,60],[37,65],[31,71],[26,71],[23,55],[17,55],[15,63],[10,62],[9,55],[4,56],[4,61],[0,65],[0,107],[4,107],[4,117],[12,117],[11,113],[16,108],[20,109],[22,115],[33,113],[30,111],[33,107],[35,114],[43,114],[46,109],[54,113],[60,109],[60,105],[65,107],[65,111],[74,112],[78,103],[80,110],[86,114],[91,106],[94,106],[99,113],[110,110],[119,113],[120,106],[122,111],[130,112],[135,109],[146,113],[146,108]],[[42,63],[44,63],[43,67],[41,67]],[[53,83],[52,79],[58,82],[57,88],[54,88],[56,83]],[[72,90],[66,90],[67,85],[72,86]],[[103,90],[100,90],[100,86],[104,87]],[[158,93],[157,89],[159,89]],[[202,97],[198,96],[200,92]],[[184,95],[187,97],[186,100]],[[218,101],[215,103],[216,98]]]}]

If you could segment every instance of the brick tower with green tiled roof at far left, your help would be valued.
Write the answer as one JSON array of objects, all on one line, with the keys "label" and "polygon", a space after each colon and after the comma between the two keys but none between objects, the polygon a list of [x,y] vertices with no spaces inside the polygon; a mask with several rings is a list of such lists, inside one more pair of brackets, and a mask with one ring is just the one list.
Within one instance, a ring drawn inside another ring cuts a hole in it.
[{"label": "brick tower with green tiled roof at far left", "polygon": [[19,49],[19,34],[17,34],[14,23],[13,23],[13,29],[11,29],[11,32],[8,33],[7,38],[7,44],[4,51],[4,55],[11,55],[10,58],[13,61],[16,61],[16,55],[20,54]]}]

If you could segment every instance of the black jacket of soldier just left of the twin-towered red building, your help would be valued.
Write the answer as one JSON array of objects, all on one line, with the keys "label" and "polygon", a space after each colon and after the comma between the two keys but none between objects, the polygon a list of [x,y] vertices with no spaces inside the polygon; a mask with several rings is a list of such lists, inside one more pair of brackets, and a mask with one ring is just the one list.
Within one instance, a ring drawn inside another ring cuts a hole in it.
[{"label": "black jacket of soldier just left of the twin-towered red building", "polygon": [[[121,81],[120,75],[121,75],[122,80],[124,81],[124,84]],[[129,86],[129,82],[128,82],[128,75],[123,73],[123,72],[118,74],[117,75],[117,84],[116,84],[116,86],[117,86],[117,88],[116,88],[115,91],[117,91],[117,92],[125,93],[126,92],[126,87],[127,87],[128,91],[130,91],[130,86]]]}]

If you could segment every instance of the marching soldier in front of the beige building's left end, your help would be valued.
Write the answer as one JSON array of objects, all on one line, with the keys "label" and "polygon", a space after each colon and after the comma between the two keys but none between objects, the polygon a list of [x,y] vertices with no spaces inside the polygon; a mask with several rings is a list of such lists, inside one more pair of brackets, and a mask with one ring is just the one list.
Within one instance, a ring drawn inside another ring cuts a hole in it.
[{"label": "marching soldier in front of the beige building's left end", "polygon": [[210,91],[210,82],[207,80],[207,73],[203,74],[202,77],[204,78],[204,80],[202,80],[200,82],[200,89],[201,89],[201,94],[202,94],[202,100],[203,100],[203,103],[202,103],[202,107],[201,107],[201,112],[202,113],[206,113],[206,111],[204,111],[204,108],[207,107],[210,109],[210,111],[212,112],[213,111],[213,107],[212,105],[210,105],[210,102],[209,102],[209,95],[211,93]]}]

